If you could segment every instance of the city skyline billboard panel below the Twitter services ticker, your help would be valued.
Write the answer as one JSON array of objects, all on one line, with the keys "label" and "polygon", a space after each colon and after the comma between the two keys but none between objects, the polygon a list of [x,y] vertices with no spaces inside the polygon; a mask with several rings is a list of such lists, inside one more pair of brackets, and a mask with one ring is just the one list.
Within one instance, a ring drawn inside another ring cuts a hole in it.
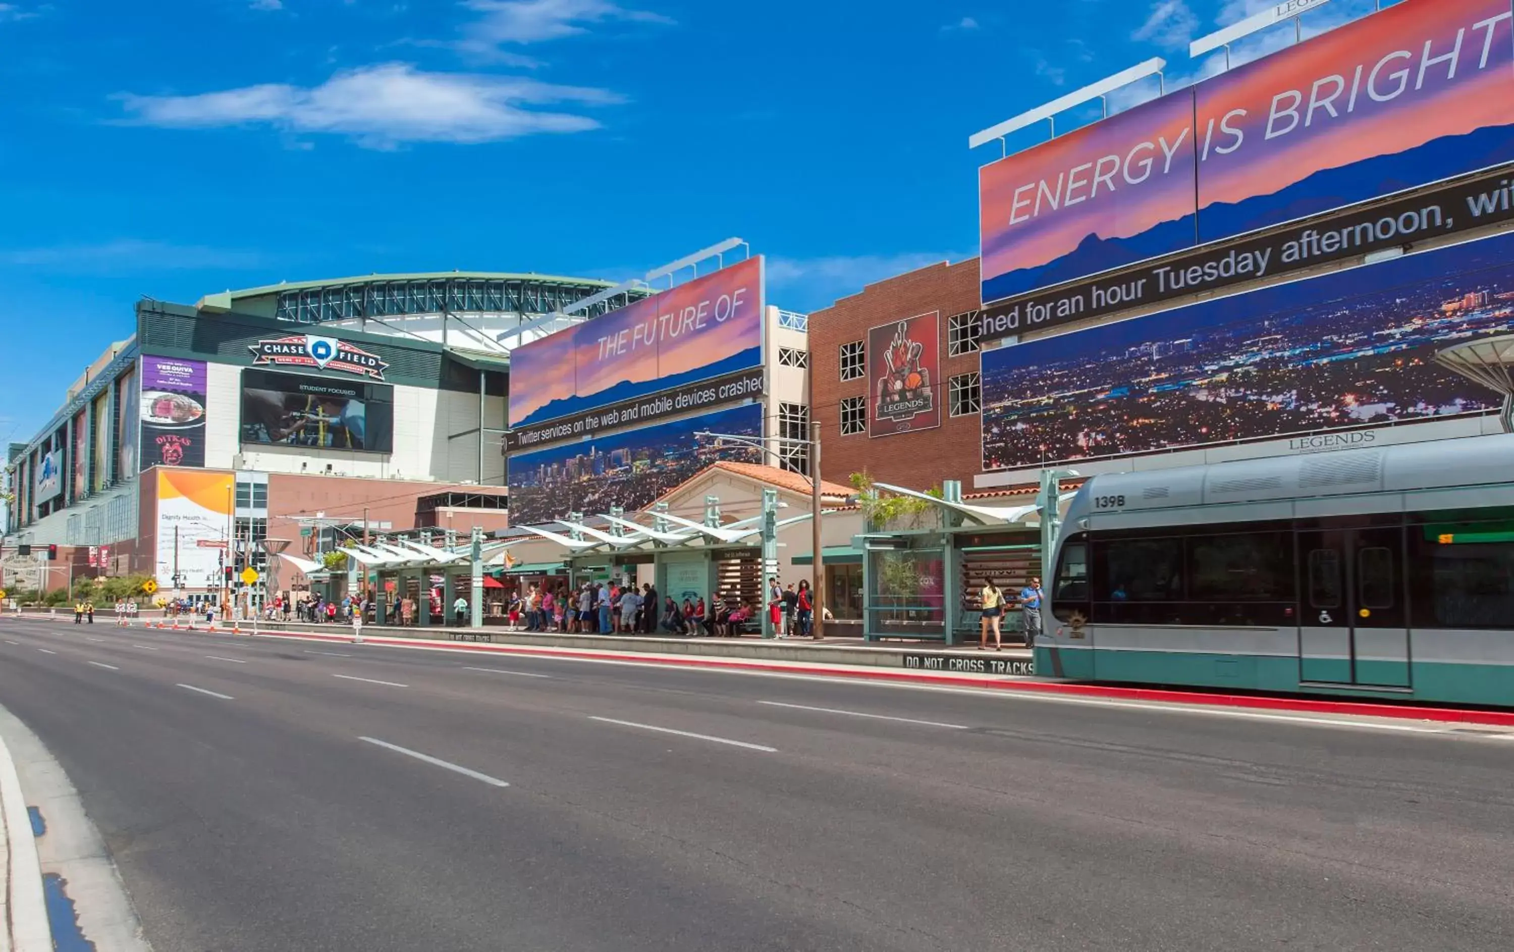
[{"label": "city skyline billboard panel below the Twitter services ticker", "polygon": [[727,407],[592,440],[510,454],[510,522],[531,525],[569,512],[637,510],[716,460],[760,463],[752,446],[701,439],[709,430],[762,437],[763,404]]}]

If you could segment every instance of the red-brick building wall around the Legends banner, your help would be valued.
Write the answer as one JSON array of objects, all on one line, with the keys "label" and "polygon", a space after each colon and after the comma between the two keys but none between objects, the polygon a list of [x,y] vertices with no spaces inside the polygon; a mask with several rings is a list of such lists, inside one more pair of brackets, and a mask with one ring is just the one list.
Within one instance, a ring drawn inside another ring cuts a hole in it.
[{"label": "red-brick building wall around the Legends banner", "polygon": [[[916,315],[940,316],[940,366],[931,381],[940,425],[868,434],[877,400],[868,372],[868,331]],[[822,468],[845,483],[866,469],[874,480],[930,489],[983,472],[978,380],[978,259],[942,262],[875,285],[810,315],[810,407],[821,422]]]}]

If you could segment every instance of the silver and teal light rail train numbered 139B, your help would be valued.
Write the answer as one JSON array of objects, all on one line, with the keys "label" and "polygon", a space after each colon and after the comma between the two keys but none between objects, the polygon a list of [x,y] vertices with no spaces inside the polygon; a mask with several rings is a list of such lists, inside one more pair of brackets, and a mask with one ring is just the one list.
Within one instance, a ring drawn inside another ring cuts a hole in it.
[{"label": "silver and teal light rail train numbered 139B", "polygon": [[1514,707],[1514,434],[1096,475],[1060,678]]}]

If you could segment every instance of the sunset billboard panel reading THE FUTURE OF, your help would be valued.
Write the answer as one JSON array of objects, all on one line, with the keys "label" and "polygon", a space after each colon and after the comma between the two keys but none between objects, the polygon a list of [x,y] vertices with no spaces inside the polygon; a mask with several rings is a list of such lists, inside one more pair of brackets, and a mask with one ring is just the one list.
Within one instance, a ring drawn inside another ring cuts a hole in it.
[{"label": "sunset billboard panel reading THE FUTURE OF", "polygon": [[[762,315],[759,256],[524,344],[510,353],[509,425],[583,419],[600,407],[760,366]],[[731,400],[746,397],[754,395]],[[592,430],[569,425],[539,442]]]}]

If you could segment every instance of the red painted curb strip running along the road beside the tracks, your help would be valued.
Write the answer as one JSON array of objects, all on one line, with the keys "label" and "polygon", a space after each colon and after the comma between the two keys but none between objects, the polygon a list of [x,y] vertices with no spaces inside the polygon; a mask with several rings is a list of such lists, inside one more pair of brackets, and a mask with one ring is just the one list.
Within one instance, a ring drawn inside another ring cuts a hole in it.
[{"label": "red painted curb strip running along the road beside the tracks", "polygon": [[[262,637],[300,639],[310,642],[351,643],[351,636],[318,634],[304,631],[268,633]],[[612,661],[636,661],[640,664],[666,664],[671,667],[706,667],[716,670],[762,670],[771,674],[816,675],[825,678],[855,678],[863,681],[892,681],[899,684],[940,684],[948,687],[975,687],[980,690],[1005,690],[1042,695],[1064,695],[1075,698],[1113,698],[1120,701],[1161,701],[1167,704],[1210,705],[1231,708],[1254,708],[1273,711],[1305,711],[1316,714],[1349,714],[1357,717],[1391,717],[1396,720],[1435,720],[1443,723],[1487,723],[1514,726],[1514,711],[1482,711],[1449,707],[1419,707],[1400,704],[1372,704],[1363,701],[1314,701],[1310,698],[1279,698],[1263,695],[1220,695],[1213,692],[1166,690],[1157,687],[1114,687],[1108,684],[1078,684],[1060,681],[989,681],[958,678],[952,675],[913,674],[902,670],[880,670],[858,667],[836,670],[830,667],[784,666],[766,661],[728,661],[724,658],[651,658],[640,652],[624,651],[562,651],[554,648],[530,648],[522,645],[480,645],[477,642],[451,642],[445,645],[415,643],[391,637],[363,637],[365,643],[394,645],[400,648],[478,651],[483,654],[524,654],[547,658],[604,658]]]}]

